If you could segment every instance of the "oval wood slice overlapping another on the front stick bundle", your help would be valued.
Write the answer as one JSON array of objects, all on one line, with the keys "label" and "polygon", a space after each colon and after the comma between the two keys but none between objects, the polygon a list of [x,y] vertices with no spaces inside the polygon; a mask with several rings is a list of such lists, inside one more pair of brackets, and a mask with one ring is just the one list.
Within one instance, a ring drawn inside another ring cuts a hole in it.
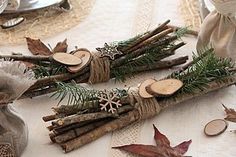
[{"label": "oval wood slice overlapping another on the front stick bundle", "polygon": [[165,79],[156,81],[146,87],[149,94],[155,96],[170,96],[183,86],[183,82],[177,79]]}]

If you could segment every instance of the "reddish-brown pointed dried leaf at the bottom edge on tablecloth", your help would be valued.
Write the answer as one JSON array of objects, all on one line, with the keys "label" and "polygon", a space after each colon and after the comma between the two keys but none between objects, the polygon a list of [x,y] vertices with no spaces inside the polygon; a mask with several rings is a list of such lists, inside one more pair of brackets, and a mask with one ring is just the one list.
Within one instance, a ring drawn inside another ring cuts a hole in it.
[{"label": "reddish-brown pointed dried leaf at the bottom edge on tablecloth", "polygon": [[171,147],[168,138],[160,133],[154,125],[153,127],[155,130],[154,139],[156,141],[156,146],[131,144],[113,148],[143,157],[183,157],[183,155],[188,151],[189,145],[192,143],[191,140],[182,142],[175,147]]}]

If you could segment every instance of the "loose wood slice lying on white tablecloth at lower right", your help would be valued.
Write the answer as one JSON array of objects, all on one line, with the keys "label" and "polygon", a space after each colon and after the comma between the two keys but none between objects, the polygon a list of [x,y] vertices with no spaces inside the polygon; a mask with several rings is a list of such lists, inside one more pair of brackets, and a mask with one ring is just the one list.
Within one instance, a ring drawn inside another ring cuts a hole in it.
[{"label": "loose wood slice lying on white tablecloth at lower right", "polygon": [[228,123],[223,119],[216,119],[209,123],[204,128],[204,133],[207,136],[217,136],[225,132],[228,127]]}]

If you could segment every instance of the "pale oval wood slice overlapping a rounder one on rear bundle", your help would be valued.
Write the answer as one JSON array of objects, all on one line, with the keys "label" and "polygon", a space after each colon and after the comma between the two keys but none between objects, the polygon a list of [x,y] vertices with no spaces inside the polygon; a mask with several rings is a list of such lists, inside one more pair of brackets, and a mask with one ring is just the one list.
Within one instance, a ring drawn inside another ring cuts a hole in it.
[{"label": "pale oval wood slice overlapping a rounder one on rear bundle", "polygon": [[52,58],[61,64],[64,65],[79,65],[82,63],[82,60],[79,57],[76,57],[69,53],[55,53]]}]

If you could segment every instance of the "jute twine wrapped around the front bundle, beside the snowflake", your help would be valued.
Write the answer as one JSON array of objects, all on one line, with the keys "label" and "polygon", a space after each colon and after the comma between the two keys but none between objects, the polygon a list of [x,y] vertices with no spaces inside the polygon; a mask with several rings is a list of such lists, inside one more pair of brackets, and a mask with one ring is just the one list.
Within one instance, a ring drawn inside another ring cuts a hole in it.
[{"label": "jute twine wrapped around the front bundle, beside the snowflake", "polygon": [[138,94],[138,89],[129,92],[130,104],[139,111],[139,120],[145,120],[159,114],[161,106],[155,99],[148,98],[144,99]]}]

